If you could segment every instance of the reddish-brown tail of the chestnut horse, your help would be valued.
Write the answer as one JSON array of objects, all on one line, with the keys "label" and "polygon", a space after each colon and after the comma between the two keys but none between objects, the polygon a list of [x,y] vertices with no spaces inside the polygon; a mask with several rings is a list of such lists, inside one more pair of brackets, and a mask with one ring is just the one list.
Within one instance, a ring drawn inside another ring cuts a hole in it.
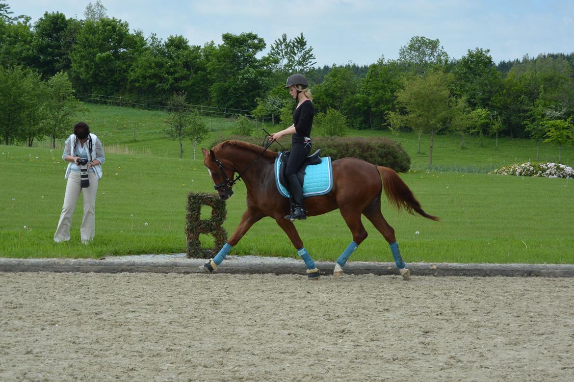
[{"label": "reddish-brown tail of the chestnut horse", "polygon": [[398,176],[395,170],[384,166],[377,166],[377,170],[379,170],[379,174],[381,174],[381,180],[383,182],[383,188],[385,189],[387,199],[389,202],[394,204],[397,209],[401,209],[402,207],[413,215],[415,215],[416,212],[418,215],[426,217],[426,219],[434,221],[440,220],[439,217],[429,215],[423,211],[421,204],[414,197],[409,186],[402,181],[401,177]]}]

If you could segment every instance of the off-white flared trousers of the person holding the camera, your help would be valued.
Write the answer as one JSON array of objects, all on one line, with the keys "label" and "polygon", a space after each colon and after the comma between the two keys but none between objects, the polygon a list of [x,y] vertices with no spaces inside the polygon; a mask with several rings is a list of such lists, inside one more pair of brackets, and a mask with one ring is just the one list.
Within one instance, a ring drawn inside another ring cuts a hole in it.
[{"label": "off-white flared trousers of the person holding the camera", "polygon": [[80,186],[80,173],[72,172],[69,174],[66,193],[64,195],[64,206],[60,214],[58,228],[54,234],[54,241],[56,241],[56,243],[70,239],[72,215],[80,193],[82,193],[84,201],[84,217],[82,219],[82,227],[80,227],[82,243],[86,244],[88,241],[94,239],[96,233],[96,193],[98,192],[98,178],[93,171],[90,171],[88,173],[88,179],[90,180],[90,187],[82,188]]}]

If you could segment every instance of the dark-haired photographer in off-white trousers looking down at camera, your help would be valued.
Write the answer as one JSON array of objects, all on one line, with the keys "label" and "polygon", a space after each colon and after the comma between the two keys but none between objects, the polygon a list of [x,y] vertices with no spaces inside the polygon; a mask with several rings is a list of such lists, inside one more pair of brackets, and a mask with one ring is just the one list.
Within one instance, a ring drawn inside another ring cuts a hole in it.
[{"label": "dark-haired photographer in off-white trousers looking down at camera", "polygon": [[88,244],[95,235],[95,204],[98,181],[102,177],[102,163],[105,161],[102,142],[90,133],[90,127],[78,122],[73,134],[66,139],[64,161],[69,162],[64,178],[68,180],[64,194],[64,206],[54,235],[54,241],[68,241],[72,215],[80,192],[83,194],[84,216],[80,236]]}]

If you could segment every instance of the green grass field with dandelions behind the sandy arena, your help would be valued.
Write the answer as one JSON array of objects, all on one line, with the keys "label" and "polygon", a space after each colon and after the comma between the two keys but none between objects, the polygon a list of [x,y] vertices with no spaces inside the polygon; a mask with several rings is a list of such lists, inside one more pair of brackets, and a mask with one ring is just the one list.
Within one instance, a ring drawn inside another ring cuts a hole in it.
[{"label": "green grass field with dandelions behind the sandy arena", "polygon": [[[81,202],[73,218],[72,240],[52,241],[65,190],[61,149],[0,146],[0,256],[98,258],[184,252],[187,194],[213,192],[213,184],[200,154],[197,160],[191,159],[190,143],[180,160],[177,143],[163,139],[161,131],[152,131],[161,130],[158,123],[163,118],[162,112],[90,105],[84,119],[102,137],[107,160],[96,201],[96,239],[85,246],[79,238]],[[231,127],[224,119],[212,123],[216,127],[204,146]],[[139,126],[135,142],[133,126]],[[413,170],[402,177],[425,211],[442,219],[435,223],[394,211],[383,202],[383,215],[395,228],[406,262],[574,263],[574,181],[484,173],[491,163],[533,159],[533,142],[499,139],[497,150],[493,139],[485,138],[481,148],[478,139],[470,138],[468,149],[460,150],[458,138],[440,136],[433,162],[443,170],[425,171],[427,158],[416,154],[416,136],[405,133],[400,141],[413,158]],[[127,154],[113,153],[108,147]],[[542,158],[556,161],[554,151],[557,155],[557,147],[542,145]],[[567,158],[563,163],[572,165],[574,149],[563,147],[563,158]],[[227,210],[224,228],[230,235],[245,210],[242,183],[235,186]],[[203,215],[207,218],[210,211],[205,209]],[[392,261],[386,241],[369,221],[364,219],[364,224],[370,236],[351,260]],[[316,260],[335,260],[352,239],[338,211],[296,225]],[[210,236],[202,240],[212,244]],[[285,233],[266,218],[251,228],[232,254],[294,257],[296,251]]]}]

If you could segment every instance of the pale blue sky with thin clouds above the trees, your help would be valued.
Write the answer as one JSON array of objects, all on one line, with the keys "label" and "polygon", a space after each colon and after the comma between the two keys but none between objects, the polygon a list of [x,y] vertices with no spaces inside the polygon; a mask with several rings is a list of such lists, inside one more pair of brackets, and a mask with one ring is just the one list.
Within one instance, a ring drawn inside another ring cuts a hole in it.
[{"label": "pale blue sky with thin clouds above the trees", "polygon": [[[95,2],[95,0],[91,0]],[[86,0],[0,0],[14,15],[45,11],[84,18]],[[316,66],[369,65],[398,58],[413,36],[440,40],[449,57],[490,49],[495,63],[525,54],[574,52],[574,1],[532,0],[100,0],[108,17],[148,37],[182,35],[192,45],[222,42],[223,33],[253,32],[267,47],[301,33]]]}]

